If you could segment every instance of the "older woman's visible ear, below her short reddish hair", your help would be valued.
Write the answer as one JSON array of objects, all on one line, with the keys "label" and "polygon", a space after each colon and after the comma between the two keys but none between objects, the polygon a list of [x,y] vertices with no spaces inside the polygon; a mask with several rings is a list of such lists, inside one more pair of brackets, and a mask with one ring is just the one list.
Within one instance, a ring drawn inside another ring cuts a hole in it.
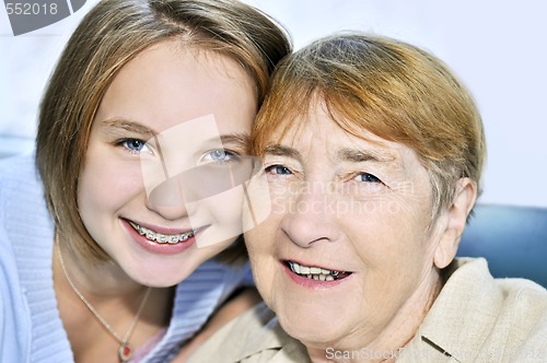
[{"label": "older woman's visible ear, below her short reddish hair", "polygon": [[454,259],[457,246],[462,239],[467,215],[469,215],[477,200],[477,184],[469,178],[459,178],[456,182],[454,199],[445,211],[446,220],[441,231],[441,238],[435,249],[433,262],[443,269]]}]

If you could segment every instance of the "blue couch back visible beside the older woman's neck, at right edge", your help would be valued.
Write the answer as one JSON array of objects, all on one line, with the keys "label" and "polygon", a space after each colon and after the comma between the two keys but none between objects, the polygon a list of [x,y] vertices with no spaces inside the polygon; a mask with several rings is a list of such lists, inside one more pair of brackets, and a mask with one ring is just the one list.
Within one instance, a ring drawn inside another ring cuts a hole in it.
[{"label": "blue couch back visible beside the older woman's neck, at right edge", "polygon": [[457,256],[485,257],[496,278],[547,288],[547,209],[477,204]]}]

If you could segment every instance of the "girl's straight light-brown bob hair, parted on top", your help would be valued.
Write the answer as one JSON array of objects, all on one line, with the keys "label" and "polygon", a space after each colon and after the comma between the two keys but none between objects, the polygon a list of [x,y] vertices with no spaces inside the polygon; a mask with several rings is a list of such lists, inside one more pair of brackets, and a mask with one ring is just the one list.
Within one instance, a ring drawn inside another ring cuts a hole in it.
[{"label": "girl's straight light-brown bob hair, parted on top", "polygon": [[102,0],[70,37],[39,109],[36,163],[47,206],[70,247],[97,260],[106,254],[78,212],[78,178],[98,104],[117,72],[164,40],[237,61],[256,86],[257,109],[276,63],[291,51],[288,33],[237,0]]}]

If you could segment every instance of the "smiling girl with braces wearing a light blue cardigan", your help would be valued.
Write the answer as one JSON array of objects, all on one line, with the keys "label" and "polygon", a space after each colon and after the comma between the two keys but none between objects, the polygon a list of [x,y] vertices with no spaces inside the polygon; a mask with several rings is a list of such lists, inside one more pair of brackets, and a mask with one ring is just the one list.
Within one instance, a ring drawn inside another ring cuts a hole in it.
[{"label": "smiling girl with braces wearing a light blue cardigan", "polygon": [[236,0],[103,0],[84,17],[36,152],[0,163],[1,362],[166,362],[249,281],[223,219],[242,199],[210,200],[290,48]]}]

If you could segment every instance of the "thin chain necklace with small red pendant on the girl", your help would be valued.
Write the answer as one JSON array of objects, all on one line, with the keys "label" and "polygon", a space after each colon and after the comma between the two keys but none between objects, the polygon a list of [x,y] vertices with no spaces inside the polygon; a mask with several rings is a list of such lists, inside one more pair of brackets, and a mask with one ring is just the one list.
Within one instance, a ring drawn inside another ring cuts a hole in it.
[{"label": "thin chain necklace with small red pendant on the girl", "polygon": [[88,306],[91,313],[97,318],[97,320],[108,330],[114,338],[119,342],[119,348],[118,348],[118,356],[121,362],[127,362],[131,359],[131,355],[133,353],[133,348],[131,344],[129,344],[129,338],[131,338],[131,335],[135,330],[135,327],[137,325],[137,321],[139,321],[139,317],[142,313],[142,309],[144,308],[144,305],[147,303],[148,296],[150,295],[150,286],[147,289],[147,292],[144,293],[144,296],[142,297],[142,301],[140,303],[139,309],[137,311],[137,315],[135,316],[133,320],[131,321],[131,325],[129,326],[129,329],[127,329],[127,332],[124,338],[121,338],[114,329],[110,327],[108,323],[104,319],[104,317],[98,314],[98,312],[91,305],[91,303],[85,298],[85,296],[78,290],[78,288],[74,285],[72,282],[72,279],[68,274],[67,267],[65,266],[65,260],[62,259],[61,255],[61,247],[59,245],[59,234],[55,234],[55,241],[57,244],[57,253],[59,254],[59,262],[61,265],[62,273],[67,278],[67,281],[72,288],[72,291],[80,297],[80,300]]}]

